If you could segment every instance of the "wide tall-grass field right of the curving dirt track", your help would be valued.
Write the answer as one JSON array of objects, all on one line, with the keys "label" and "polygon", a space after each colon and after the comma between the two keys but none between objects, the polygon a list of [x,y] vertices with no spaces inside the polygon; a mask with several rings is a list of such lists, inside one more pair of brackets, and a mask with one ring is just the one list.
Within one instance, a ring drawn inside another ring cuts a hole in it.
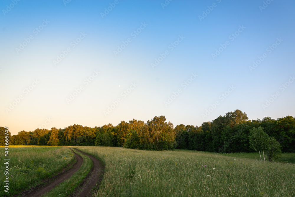
[{"label": "wide tall-grass field right of the curving dirt track", "polygon": [[183,150],[76,148],[105,164],[96,196],[295,196],[290,163]]}]

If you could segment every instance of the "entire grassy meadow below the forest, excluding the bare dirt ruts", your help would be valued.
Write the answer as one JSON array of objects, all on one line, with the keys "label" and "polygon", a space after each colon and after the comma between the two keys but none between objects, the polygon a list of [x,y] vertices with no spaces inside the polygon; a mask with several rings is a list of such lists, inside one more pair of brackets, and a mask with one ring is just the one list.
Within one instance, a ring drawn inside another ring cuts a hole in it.
[{"label": "entire grassy meadow below the forest, excluding the bare dirt ruts", "polygon": [[[71,147],[93,155],[105,166],[104,178],[94,196],[295,196],[294,153],[283,153],[282,162],[270,163],[261,162],[258,153]],[[75,157],[70,148],[10,147],[9,196],[42,183],[71,164]],[[2,157],[3,153],[4,149]],[[43,196],[70,196],[81,185],[92,162],[76,153],[83,158],[80,169]],[[4,196],[1,192],[0,196]]]}]

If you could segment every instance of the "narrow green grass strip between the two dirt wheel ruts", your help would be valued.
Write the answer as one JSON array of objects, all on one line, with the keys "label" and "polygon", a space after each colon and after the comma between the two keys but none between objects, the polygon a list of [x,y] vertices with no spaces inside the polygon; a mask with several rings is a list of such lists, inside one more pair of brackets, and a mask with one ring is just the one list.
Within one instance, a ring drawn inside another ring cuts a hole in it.
[{"label": "narrow green grass strip between the two dirt wheel ruts", "polygon": [[63,183],[60,183],[55,188],[53,188],[53,190],[42,195],[42,197],[70,196],[75,191],[75,189],[82,184],[84,178],[86,178],[91,168],[93,167],[93,162],[89,157],[84,156],[76,150],[74,151],[83,158],[83,163],[80,169],[77,172],[75,172],[71,176],[71,178],[65,180]]}]

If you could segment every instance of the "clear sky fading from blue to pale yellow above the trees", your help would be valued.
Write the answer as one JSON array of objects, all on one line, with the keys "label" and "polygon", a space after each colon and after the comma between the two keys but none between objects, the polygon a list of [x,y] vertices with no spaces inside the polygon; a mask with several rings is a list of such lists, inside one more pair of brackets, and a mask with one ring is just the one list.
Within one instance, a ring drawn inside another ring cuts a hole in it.
[{"label": "clear sky fading from blue to pale yellow above the trees", "polygon": [[[0,2],[0,126],[12,134],[236,109],[295,116],[295,2]],[[294,83],[293,83],[294,82]]]}]

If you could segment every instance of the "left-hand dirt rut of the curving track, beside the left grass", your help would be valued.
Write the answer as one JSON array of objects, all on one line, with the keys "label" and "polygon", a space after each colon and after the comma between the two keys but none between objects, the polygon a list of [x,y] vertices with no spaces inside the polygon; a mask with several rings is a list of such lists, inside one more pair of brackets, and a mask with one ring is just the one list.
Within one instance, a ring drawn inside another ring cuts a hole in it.
[{"label": "left-hand dirt rut of the curving track, beside the left grass", "polygon": [[48,191],[52,190],[56,185],[62,183],[64,180],[70,178],[75,172],[77,172],[82,163],[83,163],[83,158],[78,155],[77,153],[73,152],[75,154],[75,157],[77,159],[77,162],[75,163],[75,165],[68,170],[66,173],[62,174],[60,177],[58,177],[57,179],[53,180],[52,182],[50,182],[47,185],[42,186],[41,188],[38,188],[36,190],[33,189],[33,191],[29,192],[29,193],[24,193],[21,196],[25,196],[25,197],[39,197],[42,194],[47,193]]}]

